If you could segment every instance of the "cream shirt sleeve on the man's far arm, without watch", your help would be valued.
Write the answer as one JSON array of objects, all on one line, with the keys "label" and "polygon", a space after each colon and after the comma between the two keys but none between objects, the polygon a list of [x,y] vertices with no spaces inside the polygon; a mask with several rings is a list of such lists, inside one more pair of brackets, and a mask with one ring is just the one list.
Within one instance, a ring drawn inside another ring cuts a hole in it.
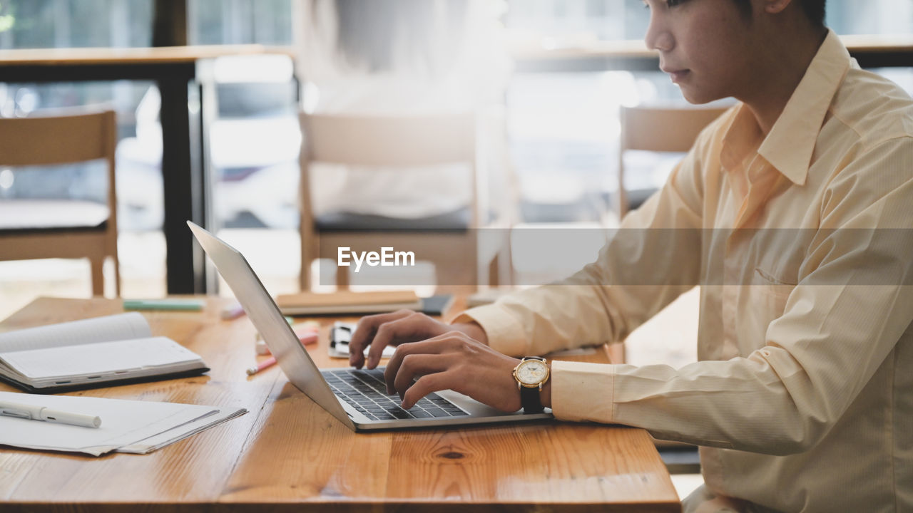
[{"label": "cream shirt sleeve on the man's far arm, without watch", "polygon": [[[725,117],[725,116],[724,116]],[[719,120],[698,137],[669,180],[621,227],[592,264],[561,282],[469,309],[488,344],[509,355],[620,342],[698,283],[705,154]]]}]

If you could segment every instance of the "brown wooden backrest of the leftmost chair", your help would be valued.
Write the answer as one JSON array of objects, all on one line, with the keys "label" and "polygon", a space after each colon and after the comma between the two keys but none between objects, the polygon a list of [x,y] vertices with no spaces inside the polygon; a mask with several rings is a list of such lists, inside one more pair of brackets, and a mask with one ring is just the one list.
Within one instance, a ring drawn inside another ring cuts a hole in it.
[{"label": "brown wooden backrest of the leftmost chair", "polygon": [[113,110],[48,111],[0,118],[0,165],[52,165],[110,159],[117,145]]}]

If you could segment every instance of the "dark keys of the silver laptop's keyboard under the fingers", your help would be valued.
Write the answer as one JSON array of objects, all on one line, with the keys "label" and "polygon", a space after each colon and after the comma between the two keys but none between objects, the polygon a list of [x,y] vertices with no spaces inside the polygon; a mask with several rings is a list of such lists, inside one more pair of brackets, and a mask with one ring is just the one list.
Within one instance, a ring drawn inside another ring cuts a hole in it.
[{"label": "dark keys of the silver laptop's keyboard under the fingers", "polygon": [[333,369],[321,371],[337,397],[349,403],[360,414],[375,420],[425,419],[468,415],[456,404],[429,393],[415,406],[404,410],[399,395],[387,395],[383,368],[367,370]]}]

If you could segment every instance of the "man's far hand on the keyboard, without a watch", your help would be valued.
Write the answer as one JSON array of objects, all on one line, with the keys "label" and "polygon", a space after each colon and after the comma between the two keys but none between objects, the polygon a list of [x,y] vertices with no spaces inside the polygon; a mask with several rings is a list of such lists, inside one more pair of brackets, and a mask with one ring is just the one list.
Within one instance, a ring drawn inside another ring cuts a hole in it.
[{"label": "man's far hand on the keyboard, without a watch", "polygon": [[364,348],[370,345],[367,367],[373,369],[381,361],[383,348],[389,344],[431,339],[454,330],[465,333],[483,344],[488,342],[485,330],[474,322],[449,325],[413,310],[398,310],[362,317],[355,332],[352,333],[352,340],[349,341],[349,364],[361,369],[365,364]]}]

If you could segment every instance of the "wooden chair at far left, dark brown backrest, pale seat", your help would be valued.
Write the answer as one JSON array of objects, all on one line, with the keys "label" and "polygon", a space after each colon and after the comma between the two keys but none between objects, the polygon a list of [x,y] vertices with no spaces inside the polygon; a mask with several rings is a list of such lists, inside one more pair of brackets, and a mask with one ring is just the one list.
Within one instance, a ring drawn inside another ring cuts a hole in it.
[{"label": "wooden chair at far left, dark brown backrest, pale seat", "polygon": [[0,119],[0,166],[54,165],[104,159],[106,205],[68,200],[0,201],[0,260],[89,258],[92,294],[104,294],[102,267],[114,262],[114,290],[121,295],[117,254],[117,199],[113,110],[61,110],[54,115]]}]

